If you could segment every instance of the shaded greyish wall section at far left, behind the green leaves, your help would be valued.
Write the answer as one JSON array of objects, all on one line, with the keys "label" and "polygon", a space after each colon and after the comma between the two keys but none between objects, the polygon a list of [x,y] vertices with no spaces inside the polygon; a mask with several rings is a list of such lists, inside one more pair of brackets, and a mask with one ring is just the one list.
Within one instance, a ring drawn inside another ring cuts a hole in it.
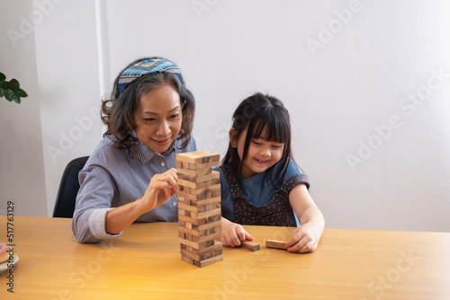
[{"label": "shaded greyish wall section at far left, behind the green leaves", "polygon": [[16,215],[46,216],[36,49],[32,27],[23,21],[32,5],[31,1],[11,3],[0,1],[0,72],[8,81],[19,80],[28,97],[22,104],[0,98],[0,214],[12,201]]}]

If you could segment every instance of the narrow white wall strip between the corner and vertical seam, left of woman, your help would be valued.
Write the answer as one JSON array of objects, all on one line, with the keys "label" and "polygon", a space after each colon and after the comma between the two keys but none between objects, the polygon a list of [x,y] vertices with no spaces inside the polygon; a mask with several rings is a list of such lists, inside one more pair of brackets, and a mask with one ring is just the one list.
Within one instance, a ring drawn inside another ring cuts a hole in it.
[{"label": "narrow white wall strip between the corner and vertical seam, left of woman", "polygon": [[[34,10],[44,12],[38,3]],[[91,154],[102,137],[102,125],[94,1],[44,3],[49,13],[36,26],[35,39],[51,214],[65,166]]]}]

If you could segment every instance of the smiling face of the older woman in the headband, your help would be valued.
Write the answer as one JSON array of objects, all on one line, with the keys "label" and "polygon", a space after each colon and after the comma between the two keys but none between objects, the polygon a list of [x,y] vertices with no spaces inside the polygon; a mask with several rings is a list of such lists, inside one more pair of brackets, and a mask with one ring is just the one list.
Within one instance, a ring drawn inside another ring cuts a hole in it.
[{"label": "smiling face of the older woman in the headband", "polygon": [[181,129],[180,95],[170,85],[151,90],[139,99],[134,121],[139,141],[161,154],[175,141]]}]

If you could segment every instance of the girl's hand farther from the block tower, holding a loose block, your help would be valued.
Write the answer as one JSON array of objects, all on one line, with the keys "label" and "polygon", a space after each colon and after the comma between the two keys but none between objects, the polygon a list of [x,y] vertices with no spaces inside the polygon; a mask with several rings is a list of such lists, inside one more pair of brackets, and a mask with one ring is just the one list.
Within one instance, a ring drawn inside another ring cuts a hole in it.
[{"label": "girl's hand farther from the block tower, holding a loose block", "polygon": [[286,243],[287,251],[312,252],[317,249],[321,235],[320,228],[314,228],[311,224],[304,224],[293,231],[293,237]]}]

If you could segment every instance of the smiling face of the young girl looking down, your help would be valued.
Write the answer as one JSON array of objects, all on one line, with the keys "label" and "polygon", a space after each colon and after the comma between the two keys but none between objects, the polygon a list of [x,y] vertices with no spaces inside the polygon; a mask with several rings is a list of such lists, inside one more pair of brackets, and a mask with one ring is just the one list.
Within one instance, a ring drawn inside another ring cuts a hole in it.
[{"label": "smiling face of the young girl looking down", "polygon": [[[244,154],[244,146],[247,137],[247,128],[243,129],[238,138],[236,138],[238,131],[235,128],[229,130],[229,140],[231,146],[238,148],[238,155],[242,161]],[[250,178],[257,173],[265,172],[278,163],[283,156],[284,144],[267,141],[266,128],[263,129],[261,137],[252,138],[247,150],[247,157],[243,160],[242,170],[240,175],[243,178]]]}]

